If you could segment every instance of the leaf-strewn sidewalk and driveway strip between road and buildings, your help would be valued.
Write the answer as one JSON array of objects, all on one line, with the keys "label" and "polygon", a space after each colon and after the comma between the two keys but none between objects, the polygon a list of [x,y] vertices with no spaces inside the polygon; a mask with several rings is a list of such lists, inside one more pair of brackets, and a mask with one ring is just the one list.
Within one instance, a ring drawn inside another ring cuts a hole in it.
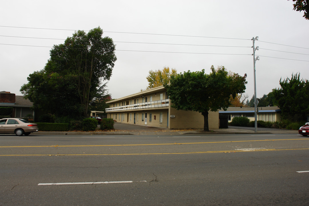
[{"label": "leaf-strewn sidewalk and driveway strip between road and buildings", "polygon": [[115,130],[109,131],[95,131],[95,132],[60,132],[60,131],[39,131],[33,134],[43,134],[43,135],[181,135],[181,134],[298,134],[297,130],[287,130],[287,129],[272,129],[272,128],[258,128],[257,133],[254,131],[255,128],[244,128],[244,127],[232,127],[227,129],[212,129],[211,132],[204,132],[201,129],[168,129],[159,128],[152,126],[134,125],[134,124],[114,124]]}]

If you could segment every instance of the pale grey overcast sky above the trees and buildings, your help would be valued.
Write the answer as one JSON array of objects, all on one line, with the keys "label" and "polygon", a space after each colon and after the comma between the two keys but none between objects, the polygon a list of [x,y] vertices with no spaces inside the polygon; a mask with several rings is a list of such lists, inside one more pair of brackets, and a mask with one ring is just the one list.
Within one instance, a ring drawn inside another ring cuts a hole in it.
[{"label": "pale grey overcast sky above the trees and buildings", "polygon": [[292,73],[309,77],[309,20],[293,10],[293,1],[15,0],[1,1],[1,7],[0,91],[16,95],[29,74],[44,68],[54,44],[74,30],[98,26],[116,44],[117,61],[108,81],[113,99],[146,89],[150,70],[169,66],[178,73],[205,69],[209,74],[211,65],[222,65],[248,75],[250,100],[251,39],[256,36],[258,98]]}]

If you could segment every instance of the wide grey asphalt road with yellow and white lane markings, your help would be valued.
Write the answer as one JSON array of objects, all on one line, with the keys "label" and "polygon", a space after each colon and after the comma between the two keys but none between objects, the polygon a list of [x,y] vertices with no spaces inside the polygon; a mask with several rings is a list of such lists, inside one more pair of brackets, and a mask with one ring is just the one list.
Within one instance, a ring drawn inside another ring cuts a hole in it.
[{"label": "wide grey asphalt road with yellow and white lane markings", "polygon": [[0,205],[308,205],[295,134],[0,135]]}]

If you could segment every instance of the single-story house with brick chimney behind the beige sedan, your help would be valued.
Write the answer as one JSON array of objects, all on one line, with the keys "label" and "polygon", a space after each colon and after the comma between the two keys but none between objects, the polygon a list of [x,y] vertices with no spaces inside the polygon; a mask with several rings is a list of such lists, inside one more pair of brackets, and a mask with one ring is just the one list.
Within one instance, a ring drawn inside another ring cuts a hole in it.
[{"label": "single-story house with brick chimney behind the beige sedan", "polygon": [[32,105],[33,103],[28,99],[24,99],[24,96],[15,95],[7,91],[0,91],[0,107],[13,107],[11,117],[34,117],[34,111],[30,109]]}]

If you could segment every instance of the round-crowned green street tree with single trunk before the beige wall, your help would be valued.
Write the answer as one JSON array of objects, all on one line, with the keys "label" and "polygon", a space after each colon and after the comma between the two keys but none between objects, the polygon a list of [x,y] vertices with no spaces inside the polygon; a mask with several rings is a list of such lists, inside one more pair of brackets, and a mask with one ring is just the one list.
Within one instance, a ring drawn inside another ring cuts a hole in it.
[{"label": "round-crowned green street tree with single trunk before the beige wall", "polygon": [[247,84],[243,77],[233,73],[228,75],[224,67],[217,70],[211,66],[211,73],[205,70],[184,72],[171,76],[170,84],[164,85],[173,108],[185,111],[198,111],[204,116],[204,131],[209,131],[209,111],[226,110],[230,106],[231,96],[243,93]]}]

